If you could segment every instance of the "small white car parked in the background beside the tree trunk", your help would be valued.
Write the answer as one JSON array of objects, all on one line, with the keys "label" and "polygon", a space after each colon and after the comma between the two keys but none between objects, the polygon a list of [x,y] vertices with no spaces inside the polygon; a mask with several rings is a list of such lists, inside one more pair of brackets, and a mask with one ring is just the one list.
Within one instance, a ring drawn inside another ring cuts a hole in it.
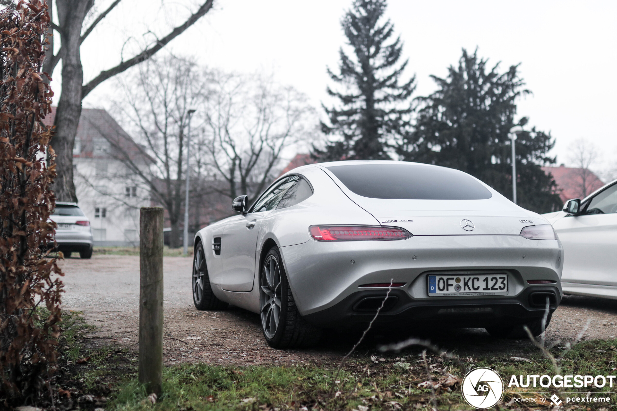
[{"label": "small white car parked in the background beside the tree trunk", "polygon": [[91,258],[94,238],[90,220],[75,203],[56,201],[56,208],[49,216],[56,222],[56,250],[62,251],[65,258],[79,253],[80,258]]}]

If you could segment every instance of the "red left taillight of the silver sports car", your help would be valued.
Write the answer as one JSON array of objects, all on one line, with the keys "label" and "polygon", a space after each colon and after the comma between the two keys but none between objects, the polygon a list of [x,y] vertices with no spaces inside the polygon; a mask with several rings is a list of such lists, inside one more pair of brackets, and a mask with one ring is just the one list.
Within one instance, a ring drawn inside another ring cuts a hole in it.
[{"label": "red left taillight of the silver sports car", "polygon": [[310,226],[309,232],[317,241],[405,240],[412,237],[407,230],[383,226]]}]

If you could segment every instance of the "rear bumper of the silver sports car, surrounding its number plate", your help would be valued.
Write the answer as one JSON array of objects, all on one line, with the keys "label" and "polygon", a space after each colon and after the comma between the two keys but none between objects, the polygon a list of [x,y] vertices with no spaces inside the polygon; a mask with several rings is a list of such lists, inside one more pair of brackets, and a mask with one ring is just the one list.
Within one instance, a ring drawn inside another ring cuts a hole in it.
[{"label": "rear bumper of the silver sports car, surrounding its number plate", "polygon": [[[456,324],[468,320],[471,324],[477,319],[479,324],[488,317],[495,321],[506,317],[541,317],[544,307],[531,307],[528,299],[532,292],[545,288],[552,293],[555,307],[561,301],[563,249],[558,240],[528,240],[519,235],[415,236],[373,242],[309,240],[281,247],[280,251],[300,313],[320,325],[372,319],[374,311],[362,313],[354,306],[367,296],[383,298],[386,290],[359,286],[390,280],[405,285],[392,290],[391,295],[397,301],[379,315],[380,322],[441,319]],[[508,295],[429,297],[427,294],[428,274],[495,271],[508,274]],[[527,280],[551,280],[554,284],[529,285]],[[455,311],[452,315],[439,312],[447,307],[486,310]],[[469,315],[460,315],[461,312]]]}]

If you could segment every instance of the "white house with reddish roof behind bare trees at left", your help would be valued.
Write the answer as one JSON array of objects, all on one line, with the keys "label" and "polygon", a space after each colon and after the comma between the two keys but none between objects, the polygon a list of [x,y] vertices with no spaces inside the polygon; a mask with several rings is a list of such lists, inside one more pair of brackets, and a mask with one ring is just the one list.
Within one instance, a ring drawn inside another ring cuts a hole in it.
[{"label": "white house with reddish roof behind bare trees at left", "polygon": [[[46,123],[53,124],[55,107]],[[118,155],[118,148],[124,155]],[[127,155],[128,153],[128,155]],[[149,190],[118,158],[147,168],[133,139],[106,112],[83,109],[73,146],[73,181],[78,205],[90,220],[94,246],[138,246],[139,208],[150,205]]]}]

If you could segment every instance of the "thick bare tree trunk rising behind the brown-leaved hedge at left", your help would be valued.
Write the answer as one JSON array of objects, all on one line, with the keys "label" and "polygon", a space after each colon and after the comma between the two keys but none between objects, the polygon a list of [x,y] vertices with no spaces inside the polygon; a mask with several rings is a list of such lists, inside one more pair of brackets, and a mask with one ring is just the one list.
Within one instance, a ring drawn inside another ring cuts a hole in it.
[{"label": "thick bare tree trunk rising behind the brown-leaved hedge at left", "polygon": [[57,0],[58,20],[62,31],[62,93],[56,109],[56,134],[51,145],[56,152],[56,179],[53,189],[58,201],[77,203],[73,184],[73,144],[81,116],[81,67],[80,44],[81,24],[94,0]]}]

